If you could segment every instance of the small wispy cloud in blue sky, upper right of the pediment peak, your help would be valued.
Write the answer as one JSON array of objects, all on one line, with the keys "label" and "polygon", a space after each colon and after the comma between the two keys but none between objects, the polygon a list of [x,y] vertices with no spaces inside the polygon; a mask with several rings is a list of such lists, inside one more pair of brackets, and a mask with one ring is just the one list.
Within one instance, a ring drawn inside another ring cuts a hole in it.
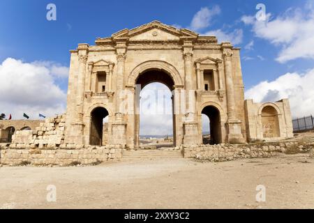
[{"label": "small wispy cloud in blue sky, upper right of the pediment peak", "polygon": [[212,18],[220,14],[220,7],[214,6],[213,8],[201,8],[193,17],[189,29],[199,31],[200,29],[207,28],[210,25]]}]

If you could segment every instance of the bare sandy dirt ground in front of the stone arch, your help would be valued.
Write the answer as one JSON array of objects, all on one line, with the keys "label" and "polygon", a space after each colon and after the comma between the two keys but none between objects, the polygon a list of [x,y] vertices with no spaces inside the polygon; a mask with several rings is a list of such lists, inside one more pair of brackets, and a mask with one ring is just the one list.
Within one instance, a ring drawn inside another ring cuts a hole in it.
[{"label": "bare sandy dirt ground in front of the stone arch", "polygon": [[[314,208],[314,159],[200,163],[186,159],[95,167],[1,167],[0,208]],[[57,188],[48,202],[47,185]],[[257,202],[257,185],[266,201]]]}]

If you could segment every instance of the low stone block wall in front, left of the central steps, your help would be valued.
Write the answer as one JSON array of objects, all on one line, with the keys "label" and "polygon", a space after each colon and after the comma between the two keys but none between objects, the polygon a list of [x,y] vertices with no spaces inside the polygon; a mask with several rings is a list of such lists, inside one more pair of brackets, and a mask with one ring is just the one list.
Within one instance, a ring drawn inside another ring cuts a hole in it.
[{"label": "low stone block wall in front, left of the central steps", "polygon": [[119,146],[84,146],[63,144],[56,148],[31,148],[31,146],[2,144],[0,163],[4,165],[56,165],[94,164],[109,160],[119,160],[123,148]]}]

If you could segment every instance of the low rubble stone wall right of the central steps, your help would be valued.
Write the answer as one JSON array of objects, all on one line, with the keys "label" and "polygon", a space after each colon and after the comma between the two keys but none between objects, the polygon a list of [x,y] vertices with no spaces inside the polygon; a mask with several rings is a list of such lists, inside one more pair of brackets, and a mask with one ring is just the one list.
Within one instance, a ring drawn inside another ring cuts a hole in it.
[{"label": "low rubble stone wall right of the central steps", "polygon": [[184,146],[185,158],[223,162],[241,158],[271,157],[276,153],[306,153],[313,151],[314,142],[289,141],[269,144],[244,144],[244,145],[195,145]]}]

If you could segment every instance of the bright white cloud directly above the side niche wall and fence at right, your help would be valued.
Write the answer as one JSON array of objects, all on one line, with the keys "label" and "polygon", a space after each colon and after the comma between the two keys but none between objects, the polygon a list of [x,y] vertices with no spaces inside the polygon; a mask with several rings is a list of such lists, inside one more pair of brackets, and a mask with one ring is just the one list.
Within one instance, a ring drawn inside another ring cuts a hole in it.
[{"label": "bright white cloud directly above the side niche wall and fence at right", "polygon": [[304,74],[286,73],[276,80],[261,82],[245,93],[247,99],[255,102],[277,101],[289,98],[292,116],[314,114],[314,69]]}]

